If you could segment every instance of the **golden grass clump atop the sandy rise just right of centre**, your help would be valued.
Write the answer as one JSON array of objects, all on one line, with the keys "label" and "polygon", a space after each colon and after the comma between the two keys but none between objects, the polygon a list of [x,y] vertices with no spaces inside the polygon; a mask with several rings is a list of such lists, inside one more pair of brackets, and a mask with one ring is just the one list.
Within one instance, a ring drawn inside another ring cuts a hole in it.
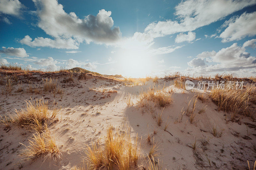
[{"label": "golden grass clump atop the sandy rise just right of centre", "polygon": [[172,103],[172,93],[167,93],[164,86],[161,87],[158,85],[158,87],[142,89],[139,93],[137,104],[141,107],[143,107],[147,101],[152,101],[160,107],[165,107]]}]

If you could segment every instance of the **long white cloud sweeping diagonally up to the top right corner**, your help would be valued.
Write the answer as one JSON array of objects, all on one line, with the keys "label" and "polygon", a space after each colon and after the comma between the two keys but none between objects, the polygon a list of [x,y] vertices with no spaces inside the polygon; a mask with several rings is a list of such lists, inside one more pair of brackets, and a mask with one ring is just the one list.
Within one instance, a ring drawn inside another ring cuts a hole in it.
[{"label": "long white cloud sweeping diagonally up to the top right corner", "polygon": [[153,22],[144,31],[152,37],[193,31],[254,4],[256,4],[256,0],[181,1],[175,7],[175,15],[180,19],[180,22],[172,20]]}]

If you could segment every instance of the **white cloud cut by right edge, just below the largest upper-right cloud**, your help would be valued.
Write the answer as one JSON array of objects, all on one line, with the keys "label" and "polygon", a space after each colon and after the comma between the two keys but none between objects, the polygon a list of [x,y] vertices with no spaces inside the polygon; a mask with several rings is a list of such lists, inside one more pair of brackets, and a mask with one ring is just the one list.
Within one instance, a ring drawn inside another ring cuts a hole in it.
[{"label": "white cloud cut by right edge, just below the largest upper-right cloud", "polygon": [[241,40],[246,36],[256,35],[256,12],[244,12],[240,17],[228,23],[228,27],[220,34],[221,42]]}]

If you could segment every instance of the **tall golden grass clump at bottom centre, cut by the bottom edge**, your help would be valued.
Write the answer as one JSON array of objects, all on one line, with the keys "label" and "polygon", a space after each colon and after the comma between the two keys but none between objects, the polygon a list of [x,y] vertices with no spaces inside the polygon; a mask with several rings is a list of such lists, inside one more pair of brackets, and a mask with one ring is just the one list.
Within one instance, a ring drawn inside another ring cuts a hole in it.
[{"label": "tall golden grass clump at bottom centre, cut by the bottom edge", "polygon": [[130,132],[120,134],[113,133],[113,127],[107,129],[104,137],[105,143],[95,143],[90,147],[87,145],[86,158],[89,169],[131,169],[137,166],[139,151],[137,149],[137,137],[134,145],[131,142]]}]

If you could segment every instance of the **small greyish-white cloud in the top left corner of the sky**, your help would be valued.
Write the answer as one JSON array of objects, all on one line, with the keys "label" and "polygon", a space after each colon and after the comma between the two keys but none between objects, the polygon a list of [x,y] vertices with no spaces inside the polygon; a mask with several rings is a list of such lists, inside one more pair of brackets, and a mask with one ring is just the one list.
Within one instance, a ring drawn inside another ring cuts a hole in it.
[{"label": "small greyish-white cloud in the top left corner of the sky", "polygon": [[23,5],[19,0],[0,0],[0,12],[8,15],[20,15]]}]

